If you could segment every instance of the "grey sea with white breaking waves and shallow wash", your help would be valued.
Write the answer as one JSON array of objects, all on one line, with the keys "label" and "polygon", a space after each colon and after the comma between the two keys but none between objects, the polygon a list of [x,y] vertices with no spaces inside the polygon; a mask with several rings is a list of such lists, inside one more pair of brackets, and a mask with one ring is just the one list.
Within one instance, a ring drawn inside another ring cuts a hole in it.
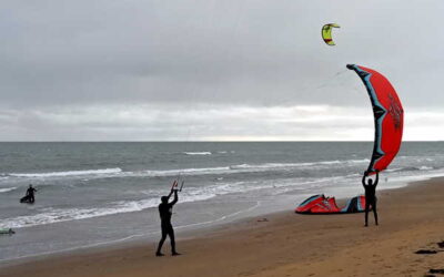
[{"label": "grey sea with white breaking waves and shallow wash", "polygon": [[[160,238],[158,205],[183,182],[181,234],[294,208],[306,197],[363,193],[372,142],[0,143],[0,265]],[[444,142],[404,142],[379,189],[444,175]],[[21,204],[28,186],[34,204]],[[180,245],[179,245],[180,247]]]}]

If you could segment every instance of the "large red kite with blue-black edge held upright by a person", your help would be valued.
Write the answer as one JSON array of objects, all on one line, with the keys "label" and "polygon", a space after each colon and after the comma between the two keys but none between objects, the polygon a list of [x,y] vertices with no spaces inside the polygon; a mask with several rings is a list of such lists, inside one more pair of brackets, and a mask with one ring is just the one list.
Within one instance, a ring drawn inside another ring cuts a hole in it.
[{"label": "large red kite with blue-black edge held upright by a person", "polygon": [[367,89],[373,106],[375,140],[372,158],[365,175],[384,171],[401,147],[404,110],[395,89],[381,73],[355,64],[347,64],[354,70]]}]

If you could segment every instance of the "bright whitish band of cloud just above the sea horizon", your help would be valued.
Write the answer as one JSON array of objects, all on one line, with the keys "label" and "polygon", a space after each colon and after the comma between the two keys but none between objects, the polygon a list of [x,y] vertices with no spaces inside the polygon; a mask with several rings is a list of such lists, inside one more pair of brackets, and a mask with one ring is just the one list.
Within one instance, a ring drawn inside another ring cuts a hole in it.
[{"label": "bright whitish band of cloud just above the sea horizon", "polygon": [[[17,124],[2,124],[2,137],[38,141],[371,141],[374,136],[371,109],[194,105],[182,110],[180,104],[131,107],[113,104],[29,111],[17,116]],[[443,122],[444,112],[411,111],[405,121],[405,138],[418,140],[426,135],[426,140],[438,140],[444,136],[440,131],[444,130]]]}]

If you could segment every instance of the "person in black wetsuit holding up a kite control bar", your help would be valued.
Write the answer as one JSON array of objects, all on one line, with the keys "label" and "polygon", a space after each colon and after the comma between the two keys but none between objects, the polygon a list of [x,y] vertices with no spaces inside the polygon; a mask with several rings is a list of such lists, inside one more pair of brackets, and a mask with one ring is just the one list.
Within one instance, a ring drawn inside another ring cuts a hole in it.
[{"label": "person in black wetsuit holding up a kite control bar", "polygon": [[[159,242],[158,250],[155,252],[155,256],[163,256],[161,253],[162,245],[167,239],[167,235],[170,237],[171,242],[171,255],[176,256],[180,255],[179,253],[175,252],[175,240],[174,240],[174,229],[173,226],[171,225],[171,215],[173,213],[173,206],[175,203],[178,203],[178,182],[174,181],[173,186],[171,188],[171,192],[168,196],[162,196],[161,201],[162,203],[159,205],[159,215],[161,219],[161,227],[162,227],[162,238]],[[168,203],[170,199],[171,195],[174,193],[174,199],[171,203]]]}]

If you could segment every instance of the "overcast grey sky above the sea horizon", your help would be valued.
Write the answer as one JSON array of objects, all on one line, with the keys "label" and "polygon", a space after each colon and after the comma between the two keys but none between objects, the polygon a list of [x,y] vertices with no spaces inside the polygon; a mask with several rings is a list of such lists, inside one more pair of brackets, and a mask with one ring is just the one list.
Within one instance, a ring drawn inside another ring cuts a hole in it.
[{"label": "overcast grey sky above the sea horizon", "polygon": [[[347,63],[405,141],[444,140],[444,1],[2,0],[0,141],[372,141]],[[333,30],[325,45],[321,28]]]}]

